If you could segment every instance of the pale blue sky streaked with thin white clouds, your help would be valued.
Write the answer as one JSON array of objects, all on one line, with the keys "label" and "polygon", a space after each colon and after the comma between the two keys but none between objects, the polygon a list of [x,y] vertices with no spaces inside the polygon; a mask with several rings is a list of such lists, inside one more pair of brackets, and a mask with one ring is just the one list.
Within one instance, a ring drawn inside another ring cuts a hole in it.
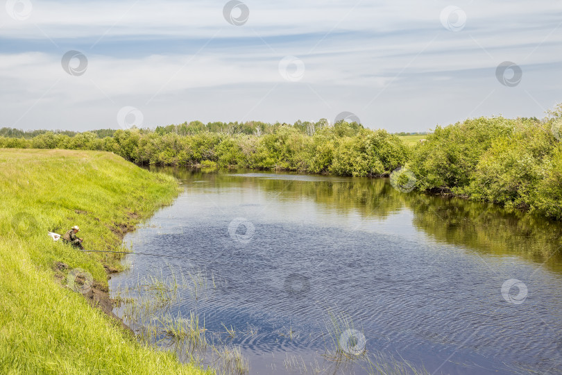
[{"label": "pale blue sky streaked with thin white clouds", "polygon": [[559,0],[3,3],[0,127],[429,131],[562,102]]}]

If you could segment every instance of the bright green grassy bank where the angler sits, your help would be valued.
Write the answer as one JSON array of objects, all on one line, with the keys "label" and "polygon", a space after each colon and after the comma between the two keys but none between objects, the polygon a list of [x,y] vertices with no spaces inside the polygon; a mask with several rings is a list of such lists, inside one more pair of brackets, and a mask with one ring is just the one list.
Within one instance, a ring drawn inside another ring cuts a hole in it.
[{"label": "bright green grassy bank where the angler sits", "polygon": [[78,225],[87,249],[117,249],[125,231],[171,202],[175,180],[111,153],[62,150],[0,149],[0,176],[0,373],[200,373],[142,346],[65,288],[77,271],[83,287],[103,288],[103,264],[117,266],[118,258],[46,234]]}]

